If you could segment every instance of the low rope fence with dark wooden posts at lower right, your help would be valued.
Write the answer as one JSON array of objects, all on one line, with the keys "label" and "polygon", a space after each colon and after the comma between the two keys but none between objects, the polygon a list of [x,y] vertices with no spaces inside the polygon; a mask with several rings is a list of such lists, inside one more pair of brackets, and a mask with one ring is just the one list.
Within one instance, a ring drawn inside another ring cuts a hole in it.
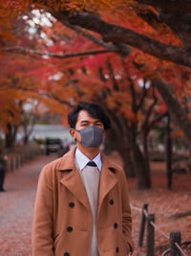
[{"label": "low rope fence with dark wooden posts at lower right", "polygon": [[[148,204],[145,203],[142,206],[142,209],[138,208],[137,206],[131,204],[131,208],[141,212],[141,220],[140,220],[140,228],[138,233],[138,246],[142,247],[143,243],[143,236],[144,236],[144,229],[145,223],[147,224],[147,240],[146,240],[146,256],[154,256],[154,233],[155,230],[159,231],[159,233],[166,239],[170,240],[169,248],[162,253],[161,256],[166,255],[166,253],[170,252],[171,256],[183,255],[188,256],[188,254],[183,251],[181,248],[180,243],[180,231],[171,231],[170,236],[166,235],[159,226],[155,223],[155,215],[148,213]],[[191,242],[187,242],[191,244]],[[182,243],[185,244],[185,243]]]}]

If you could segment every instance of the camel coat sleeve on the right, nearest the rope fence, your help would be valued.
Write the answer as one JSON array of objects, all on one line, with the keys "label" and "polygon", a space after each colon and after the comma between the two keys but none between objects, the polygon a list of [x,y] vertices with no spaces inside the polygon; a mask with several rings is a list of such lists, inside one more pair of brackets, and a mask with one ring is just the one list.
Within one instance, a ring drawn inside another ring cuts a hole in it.
[{"label": "camel coat sleeve on the right, nearest the rope fence", "polygon": [[122,178],[122,235],[127,245],[128,249],[131,252],[134,251],[134,242],[132,239],[132,217],[131,217],[131,208],[129,201],[129,190],[127,185],[127,178],[124,175],[124,172],[121,172]]}]

